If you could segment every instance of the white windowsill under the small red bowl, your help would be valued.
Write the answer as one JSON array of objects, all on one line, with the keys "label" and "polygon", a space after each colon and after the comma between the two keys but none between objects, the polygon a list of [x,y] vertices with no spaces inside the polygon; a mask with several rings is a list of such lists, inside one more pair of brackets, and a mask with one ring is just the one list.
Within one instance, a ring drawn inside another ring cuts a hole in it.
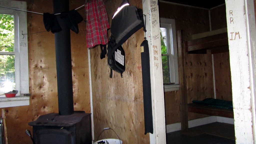
[{"label": "white windowsill under the small red bowl", "polygon": [[29,94],[26,94],[26,95],[21,94],[21,96],[15,96],[12,98],[0,97],[0,108],[29,105],[30,95]]}]

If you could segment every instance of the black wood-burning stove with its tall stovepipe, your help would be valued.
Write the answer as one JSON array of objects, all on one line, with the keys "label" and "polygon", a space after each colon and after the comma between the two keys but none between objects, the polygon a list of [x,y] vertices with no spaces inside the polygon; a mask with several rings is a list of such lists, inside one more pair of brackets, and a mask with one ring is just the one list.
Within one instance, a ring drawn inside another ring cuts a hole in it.
[{"label": "black wood-burning stove with its tall stovepipe", "polygon": [[[68,0],[53,0],[53,4],[55,14],[69,11]],[[33,126],[36,144],[89,144],[91,114],[74,111],[73,106],[70,29],[56,17],[62,29],[55,33],[59,113],[42,115],[28,124]]]}]

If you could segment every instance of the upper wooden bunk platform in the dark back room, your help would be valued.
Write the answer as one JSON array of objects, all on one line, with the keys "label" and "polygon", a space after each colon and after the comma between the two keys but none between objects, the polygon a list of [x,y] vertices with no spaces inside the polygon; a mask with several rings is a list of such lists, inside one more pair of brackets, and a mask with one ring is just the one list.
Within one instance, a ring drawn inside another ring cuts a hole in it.
[{"label": "upper wooden bunk platform in the dark back room", "polygon": [[185,42],[186,52],[189,54],[211,54],[228,52],[228,34],[226,28],[200,33],[190,36],[192,39]]}]

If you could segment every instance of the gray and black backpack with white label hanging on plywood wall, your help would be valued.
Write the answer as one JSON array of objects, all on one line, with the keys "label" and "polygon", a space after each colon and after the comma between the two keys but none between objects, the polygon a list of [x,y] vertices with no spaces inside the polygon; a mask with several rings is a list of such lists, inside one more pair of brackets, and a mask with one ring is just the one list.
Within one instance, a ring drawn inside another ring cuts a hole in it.
[{"label": "gray and black backpack with white label hanging on plywood wall", "polygon": [[[110,78],[112,70],[121,74],[125,71],[125,53],[122,44],[137,30],[144,26],[142,9],[130,6],[128,0],[123,0],[112,17],[111,37],[108,44],[108,66]],[[121,58],[121,59],[119,59]],[[121,61],[121,63],[120,63]]]}]

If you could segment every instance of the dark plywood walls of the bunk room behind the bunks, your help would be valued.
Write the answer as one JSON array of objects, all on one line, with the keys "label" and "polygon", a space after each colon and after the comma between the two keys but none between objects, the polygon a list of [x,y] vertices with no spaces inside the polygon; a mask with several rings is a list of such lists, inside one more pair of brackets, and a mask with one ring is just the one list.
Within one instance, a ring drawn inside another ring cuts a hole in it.
[{"label": "dark plywood walls of the bunk room behind the bunks", "polygon": [[[210,18],[209,20],[209,13]],[[227,27],[226,7],[208,9],[175,5],[170,3],[159,3],[159,16],[161,18],[175,19],[176,31],[184,30],[184,40],[189,35],[208,32]],[[216,82],[217,98],[232,100],[231,79],[228,53],[215,54],[214,73]],[[221,66],[222,68],[220,68]],[[217,68],[216,68],[217,67]],[[225,68],[224,68],[225,67]],[[225,69],[225,70],[223,70]],[[212,55],[186,54],[186,77],[188,103],[192,100],[203,100],[214,98],[214,77],[212,70]],[[225,76],[223,76],[225,74]],[[223,76],[223,77],[220,77]],[[181,78],[182,76],[179,75]],[[180,90],[165,92],[165,119],[166,125],[181,122],[180,119]],[[228,95],[227,95],[228,94]],[[207,115],[188,113],[189,120],[206,117]]]}]

